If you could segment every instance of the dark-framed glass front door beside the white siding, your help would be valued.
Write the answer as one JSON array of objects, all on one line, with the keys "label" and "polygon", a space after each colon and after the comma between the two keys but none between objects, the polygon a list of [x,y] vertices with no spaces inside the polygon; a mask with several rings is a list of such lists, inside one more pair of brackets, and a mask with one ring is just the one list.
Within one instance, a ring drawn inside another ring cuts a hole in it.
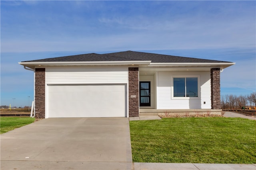
[{"label": "dark-framed glass front door beside the white siding", "polygon": [[140,82],[140,106],[150,106],[150,82]]}]

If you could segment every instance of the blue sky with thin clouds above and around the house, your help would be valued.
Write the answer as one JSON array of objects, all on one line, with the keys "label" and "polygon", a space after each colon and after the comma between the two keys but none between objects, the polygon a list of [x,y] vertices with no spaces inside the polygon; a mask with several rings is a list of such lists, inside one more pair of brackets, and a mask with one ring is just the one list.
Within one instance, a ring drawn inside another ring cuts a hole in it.
[{"label": "blue sky with thin clouds above and around the house", "polygon": [[236,62],[221,73],[221,94],[256,90],[256,1],[1,0],[0,8],[1,105],[33,100],[33,72],[18,62],[91,52]]}]

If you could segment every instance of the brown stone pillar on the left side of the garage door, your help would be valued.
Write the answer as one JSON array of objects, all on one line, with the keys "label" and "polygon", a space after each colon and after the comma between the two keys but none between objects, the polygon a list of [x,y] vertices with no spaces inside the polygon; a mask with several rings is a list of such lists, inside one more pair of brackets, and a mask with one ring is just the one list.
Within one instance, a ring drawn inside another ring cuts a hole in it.
[{"label": "brown stone pillar on the left side of the garage door", "polygon": [[45,118],[45,68],[35,70],[35,118]]}]

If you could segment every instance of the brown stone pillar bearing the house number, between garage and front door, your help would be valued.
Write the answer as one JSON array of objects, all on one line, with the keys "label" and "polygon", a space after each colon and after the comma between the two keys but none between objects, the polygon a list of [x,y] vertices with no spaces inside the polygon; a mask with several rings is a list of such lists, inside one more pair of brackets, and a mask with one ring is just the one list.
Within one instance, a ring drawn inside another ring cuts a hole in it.
[{"label": "brown stone pillar bearing the house number, between garage and front door", "polygon": [[[128,68],[129,71],[129,117],[139,116],[139,68]],[[133,98],[131,98],[133,96]],[[135,97],[136,96],[136,97]]]}]

